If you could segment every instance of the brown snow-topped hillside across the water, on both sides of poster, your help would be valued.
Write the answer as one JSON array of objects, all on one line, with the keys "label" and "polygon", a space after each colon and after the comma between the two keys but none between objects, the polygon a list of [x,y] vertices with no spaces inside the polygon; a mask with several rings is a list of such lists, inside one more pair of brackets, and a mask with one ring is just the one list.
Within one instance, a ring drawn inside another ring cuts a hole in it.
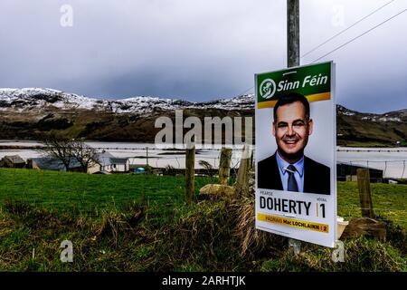
[{"label": "brown snow-topped hillside across the water, on both sides of poster", "polygon": [[[151,96],[99,100],[52,89],[0,89],[0,139],[35,140],[60,131],[71,138],[152,142],[156,118],[244,117],[254,114],[254,95],[213,102],[187,102]],[[407,110],[384,114],[351,111],[338,105],[337,143],[343,146],[407,145]]]}]

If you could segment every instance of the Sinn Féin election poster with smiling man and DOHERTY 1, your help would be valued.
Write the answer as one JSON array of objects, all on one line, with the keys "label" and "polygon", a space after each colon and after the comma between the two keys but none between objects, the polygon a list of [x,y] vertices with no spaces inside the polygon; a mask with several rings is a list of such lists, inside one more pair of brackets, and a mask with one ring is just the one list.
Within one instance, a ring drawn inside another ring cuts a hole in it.
[{"label": "Sinn F\u00e9in election poster with smiling man and DOHERTY 1", "polygon": [[334,247],[335,63],[255,74],[256,228]]}]

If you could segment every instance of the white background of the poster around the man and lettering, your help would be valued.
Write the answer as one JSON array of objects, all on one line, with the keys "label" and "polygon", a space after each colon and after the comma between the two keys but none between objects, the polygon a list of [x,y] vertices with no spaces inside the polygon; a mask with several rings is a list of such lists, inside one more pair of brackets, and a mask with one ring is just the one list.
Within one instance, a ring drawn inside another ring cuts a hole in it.
[{"label": "white background of the poster around the man and lettering", "polygon": [[[276,189],[259,189],[257,186],[257,162],[266,159],[277,150],[275,137],[272,134],[273,108],[258,109],[256,92],[256,228],[270,233],[307,241],[325,247],[334,247],[336,241],[336,102],[335,102],[335,66],[331,68],[331,99],[310,102],[310,118],[314,121],[313,133],[308,138],[304,154],[312,160],[327,165],[331,169],[330,195],[315,193],[289,192]],[[292,69],[292,68],[290,68]],[[257,90],[257,85],[256,85]],[[311,202],[310,215],[288,214],[281,211],[260,208],[260,197],[289,198]],[[325,204],[326,217],[322,218],[321,204]],[[318,217],[317,217],[318,206]],[[258,214],[274,217],[294,218],[329,226],[328,233],[305,228],[288,227],[261,221]]]}]

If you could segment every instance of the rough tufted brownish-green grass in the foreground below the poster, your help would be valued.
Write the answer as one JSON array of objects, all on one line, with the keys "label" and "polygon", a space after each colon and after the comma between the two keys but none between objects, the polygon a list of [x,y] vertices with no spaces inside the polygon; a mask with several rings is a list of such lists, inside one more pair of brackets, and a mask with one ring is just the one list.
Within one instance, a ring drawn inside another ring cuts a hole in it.
[{"label": "rough tufted brownish-green grass in the foreground below the poster", "polygon": [[[242,237],[254,228],[251,222],[240,227],[246,202],[179,204],[171,214],[148,207],[136,222],[132,217],[143,208],[137,205],[94,219],[8,204],[0,210],[0,271],[407,271],[400,232],[399,240],[386,242],[344,240],[343,263],[332,261],[331,249],[308,243],[294,256],[287,238],[265,232],[242,251]],[[163,214],[166,220],[157,223]],[[60,261],[65,239],[73,243],[73,263]]]}]

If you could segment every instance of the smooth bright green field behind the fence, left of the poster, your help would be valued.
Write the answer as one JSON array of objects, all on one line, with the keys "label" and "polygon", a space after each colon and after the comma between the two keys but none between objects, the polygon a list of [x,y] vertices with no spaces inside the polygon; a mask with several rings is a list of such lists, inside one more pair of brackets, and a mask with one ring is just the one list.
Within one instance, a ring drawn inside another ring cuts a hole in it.
[{"label": "smooth bright green field behind the fence, left of the poster", "polygon": [[[213,178],[196,178],[195,194]],[[30,169],[0,169],[0,205],[20,200],[59,212],[122,208],[133,201],[179,203],[185,197],[183,176],[89,175]]]}]

